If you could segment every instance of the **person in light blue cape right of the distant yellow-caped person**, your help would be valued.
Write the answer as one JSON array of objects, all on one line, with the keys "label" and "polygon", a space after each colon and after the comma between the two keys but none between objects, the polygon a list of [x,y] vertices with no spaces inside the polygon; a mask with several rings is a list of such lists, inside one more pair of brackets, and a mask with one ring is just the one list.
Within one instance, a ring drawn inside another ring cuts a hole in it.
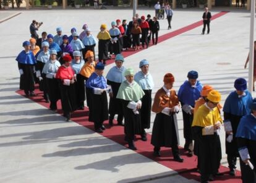
[{"label": "person in light blue cape right of the distant yellow-caped person", "polygon": [[121,46],[119,43],[119,37],[121,37],[121,32],[119,28],[116,27],[116,22],[111,22],[111,28],[109,29],[109,35],[111,36],[109,44],[109,53],[114,55],[121,53]]}]

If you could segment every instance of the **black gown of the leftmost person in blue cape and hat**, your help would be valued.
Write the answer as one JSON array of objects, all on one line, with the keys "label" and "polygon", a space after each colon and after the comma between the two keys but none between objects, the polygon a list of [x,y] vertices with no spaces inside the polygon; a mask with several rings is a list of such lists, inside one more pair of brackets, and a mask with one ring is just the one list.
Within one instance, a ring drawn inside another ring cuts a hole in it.
[{"label": "black gown of the leftmost person in blue cape and hat", "polygon": [[20,75],[20,90],[24,90],[27,94],[28,91],[35,90],[35,77],[34,70],[35,65],[21,64],[18,62],[19,69],[23,70],[23,74]]}]

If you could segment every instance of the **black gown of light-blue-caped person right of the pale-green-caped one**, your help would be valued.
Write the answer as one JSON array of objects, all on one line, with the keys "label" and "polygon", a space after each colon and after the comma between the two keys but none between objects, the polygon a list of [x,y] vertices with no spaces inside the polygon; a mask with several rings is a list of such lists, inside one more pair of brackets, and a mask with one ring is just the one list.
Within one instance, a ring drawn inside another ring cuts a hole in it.
[{"label": "black gown of light-blue-caped person right of the pale-green-caped one", "polygon": [[142,129],[150,129],[150,116],[151,116],[151,91],[152,90],[143,90],[145,95],[142,98],[142,108],[141,112],[141,121],[142,121]]}]

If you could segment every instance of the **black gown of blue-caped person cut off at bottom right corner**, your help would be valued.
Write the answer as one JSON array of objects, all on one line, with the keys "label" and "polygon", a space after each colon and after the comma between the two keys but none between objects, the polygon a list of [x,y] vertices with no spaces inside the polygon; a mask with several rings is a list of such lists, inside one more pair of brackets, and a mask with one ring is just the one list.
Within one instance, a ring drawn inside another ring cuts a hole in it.
[{"label": "black gown of blue-caped person cut off at bottom right corner", "polygon": [[256,140],[247,138],[237,138],[238,148],[247,147],[250,155],[250,162],[254,165],[254,171],[250,169],[242,160],[240,160],[240,168],[243,183],[256,183]]}]

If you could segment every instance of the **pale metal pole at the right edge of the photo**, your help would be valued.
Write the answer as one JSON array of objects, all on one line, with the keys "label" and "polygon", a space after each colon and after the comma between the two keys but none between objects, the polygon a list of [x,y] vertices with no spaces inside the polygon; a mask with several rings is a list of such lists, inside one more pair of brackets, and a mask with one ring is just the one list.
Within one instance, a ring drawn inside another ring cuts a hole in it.
[{"label": "pale metal pole at the right edge of the photo", "polygon": [[249,79],[248,89],[252,93],[254,82],[254,19],[255,19],[255,0],[250,1],[250,54],[249,54]]}]

